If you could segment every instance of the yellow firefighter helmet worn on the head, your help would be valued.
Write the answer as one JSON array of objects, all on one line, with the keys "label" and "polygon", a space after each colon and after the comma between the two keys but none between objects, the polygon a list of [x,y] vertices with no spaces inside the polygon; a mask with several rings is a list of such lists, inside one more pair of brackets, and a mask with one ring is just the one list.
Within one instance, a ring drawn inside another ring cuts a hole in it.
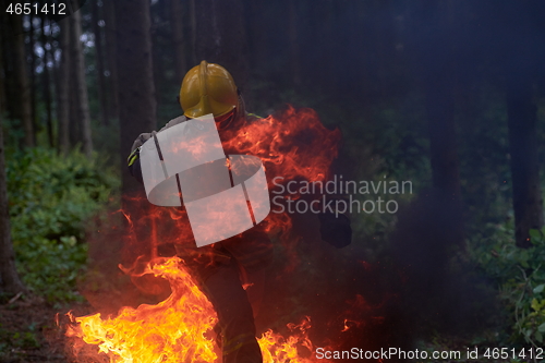
[{"label": "yellow firefighter helmet worn on the head", "polygon": [[225,68],[202,61],[183,77],[180,105],[191,119],[208,113],[223,116],[239,107],[237,85]]}]

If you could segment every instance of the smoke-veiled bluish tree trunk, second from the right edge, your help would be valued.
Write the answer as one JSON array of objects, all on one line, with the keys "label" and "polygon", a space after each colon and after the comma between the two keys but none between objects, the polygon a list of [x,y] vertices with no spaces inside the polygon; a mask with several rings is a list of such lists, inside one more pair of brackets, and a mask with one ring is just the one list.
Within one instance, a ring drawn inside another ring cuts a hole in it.
[{"label": "smoke-veiled bluish tree trunk, second from the right edge", "polygon": [[[426,2],[423,2],[427,7]],[[426,34],[420,49],[423,71],[426,111],[429,132],[429,154],[433,185],[445,195],[452,213],[448,231],[455,240],[463,243],[461,186],[455,123],[455,72],[456,55],[451,35],[455,23],[450,2],[434,5],[420,12],[417,21],[424,24],[421,34]],[[420,25],[422,26],[422,25]]]}]

